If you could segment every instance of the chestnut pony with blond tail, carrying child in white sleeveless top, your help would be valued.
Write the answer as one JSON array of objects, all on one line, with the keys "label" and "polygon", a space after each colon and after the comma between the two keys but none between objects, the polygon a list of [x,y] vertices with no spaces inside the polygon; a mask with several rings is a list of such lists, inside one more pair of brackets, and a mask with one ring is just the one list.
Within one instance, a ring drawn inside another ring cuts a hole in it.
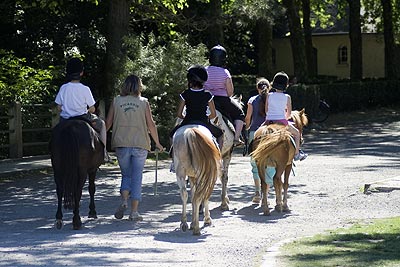
[{"label": "chestnut pony with blond tail, carrying child in white sleeveless top", "polygon": [[[303,127],[308,124],[307,116],[304,109],[300,111],[293,111],[291,118],[302,133]],[[261,180],[262,190],[262,206],[264,215],[269,215],[268,208],[268,192],[265,180],[265,167],[275,167],[275,175],[273,177],[276,206],[275,210],[278,212],[289,211],[287,204],[287,192],[289,188],[289,175],[292,170],[292,162],[295,155],[294,140],[287,130],[286,126],[279,124],[264,125],[258,128],[254,133],[254,140],[252,143],[251,156],[257,164],[258,174]],[[282,184],[282,174],[284,181]],[[283,190],[283,199],[282,199]]]}]

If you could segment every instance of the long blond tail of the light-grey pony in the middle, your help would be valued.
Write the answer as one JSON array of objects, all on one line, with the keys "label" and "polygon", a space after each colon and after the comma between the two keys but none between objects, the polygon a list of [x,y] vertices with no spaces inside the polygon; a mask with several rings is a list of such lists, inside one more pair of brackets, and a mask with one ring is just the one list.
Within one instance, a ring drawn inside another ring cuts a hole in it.
[{"label": "long blond tail of the light-grey pony in the middle", "polygon": [[195,196],[201,201],[208,199],[214,189],[221,169],[221,154],[214,142],[197,128],[185,131],[186,142],[195,171]]}]

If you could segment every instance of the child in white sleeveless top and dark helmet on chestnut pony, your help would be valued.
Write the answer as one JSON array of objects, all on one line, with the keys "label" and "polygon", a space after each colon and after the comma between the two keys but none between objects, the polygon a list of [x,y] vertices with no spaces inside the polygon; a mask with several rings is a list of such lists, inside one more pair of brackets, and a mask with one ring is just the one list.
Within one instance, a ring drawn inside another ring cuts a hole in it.
[{"label": "child in white sleeveless top and dark helmet on chestnut pony", "polygon": [[285,94],[284,90],[289,85],[289,77],[284,72],[278,72],[272,81],[272,88],[275,92],[270,92],[265,101],[266,124],[280,123],[288,126],[289,132],[293,135],[296,143],[296,153],[294,160],[304,160],[307,154],[300,150],[300,133],[293,123],[288,122],[292,113],[292,99]]}]

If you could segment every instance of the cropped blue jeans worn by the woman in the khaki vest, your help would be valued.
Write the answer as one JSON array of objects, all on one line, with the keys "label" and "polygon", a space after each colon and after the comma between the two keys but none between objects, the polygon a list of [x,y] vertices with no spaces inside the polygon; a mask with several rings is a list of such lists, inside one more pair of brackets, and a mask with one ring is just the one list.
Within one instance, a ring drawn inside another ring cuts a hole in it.
[{"label": "cropped blue jeans worn by the woman in the khaki vest", "polygon": [[118,164],[121,169],[121,191],[129,191],[131,200],[142,200],[143,169],[148,151],[137,147],[117,147]]}]

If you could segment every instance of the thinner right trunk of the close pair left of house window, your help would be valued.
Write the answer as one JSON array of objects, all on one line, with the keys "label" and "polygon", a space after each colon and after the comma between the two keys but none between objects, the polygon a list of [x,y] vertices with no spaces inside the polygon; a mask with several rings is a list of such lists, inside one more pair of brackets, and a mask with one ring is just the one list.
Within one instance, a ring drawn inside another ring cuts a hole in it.
[{"label": "thinner right trunk of the close pair left of house window", "polygon": [[315,77],[317,75],[317,66],[315,64],[316,61],[314,56],[314,47],[312,43],[310,0],[302,0],[302,8],[307,71],[309,77]]}]

